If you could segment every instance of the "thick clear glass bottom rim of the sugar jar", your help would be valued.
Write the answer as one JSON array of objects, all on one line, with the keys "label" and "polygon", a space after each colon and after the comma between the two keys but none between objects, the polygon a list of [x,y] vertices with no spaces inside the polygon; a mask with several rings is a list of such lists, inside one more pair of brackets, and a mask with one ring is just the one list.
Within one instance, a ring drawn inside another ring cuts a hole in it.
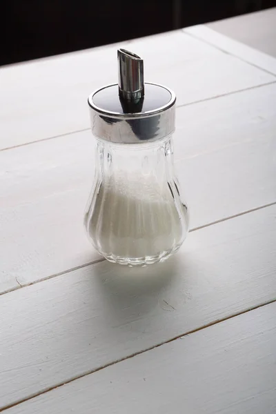
[{"label": "thick clear glass bottom rim of the sugar jar", "polygon": [[[182,243],[181,243],[182,244]],[[164,262],[168,257],[173,255],[179,250],[181,244],[177,244],[170,250],[163,251],[159,255],[155,256],[144,256],[144,257],[120,257],[115,255],[106,255],[101,253],[101,255],[111,263],[122,264],[124,266],[146,266],[147,264],[154,264],[158,262]]]}]

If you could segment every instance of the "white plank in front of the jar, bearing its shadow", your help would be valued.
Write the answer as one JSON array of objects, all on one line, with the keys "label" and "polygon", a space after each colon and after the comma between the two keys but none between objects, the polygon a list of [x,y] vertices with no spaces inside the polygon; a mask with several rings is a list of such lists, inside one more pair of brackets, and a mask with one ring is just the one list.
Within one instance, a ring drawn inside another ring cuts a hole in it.
[{"label": "white plank in front of the jar, bearing its shadow", "polygon": [[0,407],[275,299],[275,215],[190,233],[163,264],[104,261],[2,295]]}]

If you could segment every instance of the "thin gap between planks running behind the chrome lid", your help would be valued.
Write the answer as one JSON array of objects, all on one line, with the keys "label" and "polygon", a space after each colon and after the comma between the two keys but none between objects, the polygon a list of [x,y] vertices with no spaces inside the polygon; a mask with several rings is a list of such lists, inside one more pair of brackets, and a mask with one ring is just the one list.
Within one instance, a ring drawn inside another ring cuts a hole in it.
[{"label": "thin gap between planks running behind the chrome lid", "polygon": [[[193,37],[191,34],[190,34],[190,36]],[[211,45],[211,46],[213,46],[213,45]],[[222,50],[222,51],[224,52],[224,50]],[[230,55],[230,53],[228,53],[228,55]],[[246,63],[248,63],[248,62],[246,62]],[[270,75],[273,75],[273,74],[270,74]],[[275,81],[271,81],[271,82],[262,83],[261,85],[250,86],[249,88],[244,88],[244,89],[239,89],[239,90],[233,90],[232,92],[223,93],[221,95],[216,95],[215,97],[210,97],[210,98],[206,98],[206,99],[199,99],[198,101],[192,101],[192,102],[188,102],[188,103],[183,103],[182,105],[179,105],[179,106],[176,106],[176,107],[177,108],[182,108],[184,106],[195,105],[196,103],[201,103],[201,102],[205,102],[205,101],[213,101],[213,99],[217,99],[217,98],[221,98],[221,97],[226,97],[228,95],[235,95],[236,93],[239,93],[239,92],[246,92],[246,90],[262,88],[262,86],[273,85],[273,83],[276,83],[276,80]],[[32,144],[37,144],[38,142],[49,141],[50,139],[55,139],[55,138],[59,138],[59,137],[65,137],[66,135],[77,134],[77,132],[84,132],[84,131],[88,131],[90,129],[91,128],[83,128],[81,130],[64,132],[63,134],[54,135],[53,137],[47,137],[47,138],[37,139],[36,141],[30,141],[30,142],[25,142],[24,144],[14,145],[14,146],[6,147],[6,148],[1,148],[0,149],[0,152],[7,151],[7,150],[12,150],[14,148],[19,148],[21,146],[28,146],[28,145],[32,145]]]}]

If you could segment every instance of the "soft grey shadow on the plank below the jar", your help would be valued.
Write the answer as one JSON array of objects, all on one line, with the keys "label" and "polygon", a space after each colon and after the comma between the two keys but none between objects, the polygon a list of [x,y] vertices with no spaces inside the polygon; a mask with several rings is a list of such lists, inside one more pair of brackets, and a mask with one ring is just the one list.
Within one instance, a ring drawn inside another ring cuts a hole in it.
[{"label": "soft grey shadow on the plank below the jar", "polygon": [[175,275],[179,275],[177,267],[177,256],[163,263],[132,268],[101,262],[94,266],[93,277],[97,278],[99,293],[112,312],[113,321],[126,323],[140,319],[157,305],[173,311],[173,307],[161,298],[162,292],[170,290],[174,284]]}]

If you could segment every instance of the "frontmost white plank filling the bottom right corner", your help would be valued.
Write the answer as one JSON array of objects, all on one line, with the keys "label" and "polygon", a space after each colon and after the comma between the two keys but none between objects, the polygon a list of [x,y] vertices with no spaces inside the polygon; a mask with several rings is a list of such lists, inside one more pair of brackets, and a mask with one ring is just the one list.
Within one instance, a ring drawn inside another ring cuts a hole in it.
[{"label": "frontmost white plank filling the bottom right corner", "polygon": [[274,414],[276,304],[19,404],[8,414]]}]

